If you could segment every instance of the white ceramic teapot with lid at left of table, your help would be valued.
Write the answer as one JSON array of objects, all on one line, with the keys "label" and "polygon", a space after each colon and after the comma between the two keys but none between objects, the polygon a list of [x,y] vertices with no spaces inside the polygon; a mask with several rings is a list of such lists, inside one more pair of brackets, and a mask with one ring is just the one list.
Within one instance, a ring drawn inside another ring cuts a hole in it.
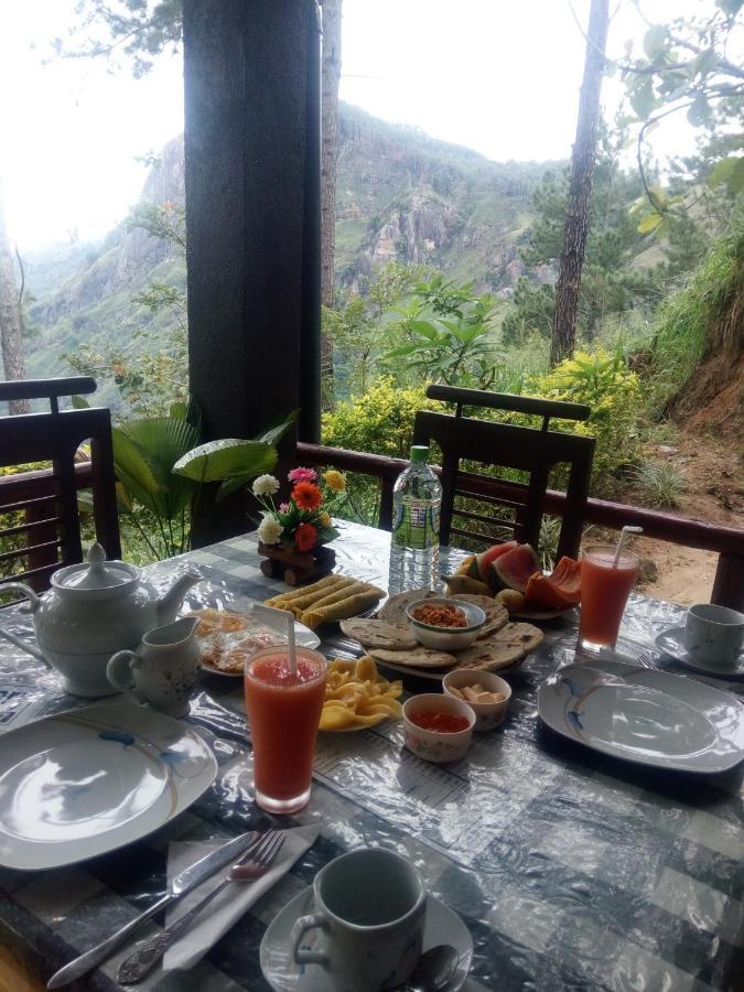
[{"label": "white ceramic teapot with lid at left of table", "polygon": [[28,596],[36,643],[67,692],[116,692],[106,677],[111,655],[136,648],[148,630],[174,621],[186,591],[202,579],[194,570],[184,572],[161,596],[141,574],[136,565],[107,561],[101,546],[94,544],[87,562],[54,572],[52,589],[42,596],[28,585],[3,585]]}]

